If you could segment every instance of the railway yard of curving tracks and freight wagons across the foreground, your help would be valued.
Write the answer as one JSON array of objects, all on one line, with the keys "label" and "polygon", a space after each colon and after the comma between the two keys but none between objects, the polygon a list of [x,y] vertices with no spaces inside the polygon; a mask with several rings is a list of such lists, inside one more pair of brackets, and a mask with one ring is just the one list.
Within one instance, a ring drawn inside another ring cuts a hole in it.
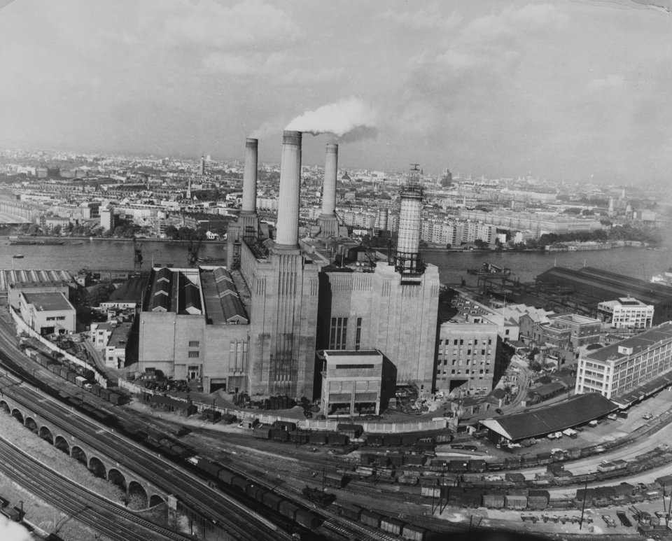
[{"label": "railway yard of curving tracks and freight wagons across the foreground", "polygon": [[[635,539],[662,537],[669,531],[665,517],[670,499],[665,483],[672,486],[672,477],[666,477],[672,463],[672,449],[667,445],[672,412],[667,391],[631,408],[627,419],[603,420],[575,439],[497,449],[485,440],[463,436],[452,440],[447,432],[372,437],[358,433],[356,425],[350,424],[338,433],[302,433],[291,423],[251,429],[158,414],[141,400],[121,405],[83,393],[18,351],[13,330],[6,324],[0,326],[0,340],[3,365],[13,367],[25,379],[19,384],[15,376],[2,377],[4,393],[27,404],[41,402],[27,385],[28,375],[33,374],[67,403],[72,416],[69,424],[83,430],[76,437],[85,440],[83,427],[94,421],[85,420],[83,414],[91,417],[95,412],[94,419],[112,424],[87,430],[97,433],[98,440],[110,438],[106,440],[109,447],[120,438],[114,432],[124,433],[119,452],[124,449],[134,460],[134,468],[146,468],[147,477],[162,477],[181,500],[178,521],[175,514],[172,522],[167,521],[163,504],[153,507],[151,515],[139,513],[149,505],[147,495],[144,501],[137,495],[130,501],[126,498],[126,507],[121,500],[128,491],[112,484],[107,485],[116,501],[84,493],[81,486],[93,484],[80,476],[91,479],[101,473],[92,471],[90,465],[89,472],[82,465],[77,475],[60,465],[64,477],[57,478],[56,472],[41,470],[8,442],[0,442],[3,456],[12,456],[1,468],[3,475],[23,479],[19,484],[41,498],[27,514],[39,508],[50,516],[53,508],[62,521],[95,528],[100,539],[219,538],[211,533],[207,521],[219,525],[230,521],[223,528],[229,533],[222,539],[293,535],[303,539],[431,540],[447,533],[494,529]],[[76,410],[80,413],[75,414]],[[57,416],[48,409],[39,414]],[[155,457],[151,459],[155,469],[142,453]],[[55,486],[64,488],[54,493]],[[252,526],[246,521],[237,524],[235,517],[244,514],[243,510],[259,517],[248,519]],[[129,521],[128,526],[123,526],[124,521]],[[46,517],[38,522],[55,526],[58,520]],[[137,532],[149,528],[151,534],[134,537],[123,528]],[[182,533],[173,533],[176,529]]]}]

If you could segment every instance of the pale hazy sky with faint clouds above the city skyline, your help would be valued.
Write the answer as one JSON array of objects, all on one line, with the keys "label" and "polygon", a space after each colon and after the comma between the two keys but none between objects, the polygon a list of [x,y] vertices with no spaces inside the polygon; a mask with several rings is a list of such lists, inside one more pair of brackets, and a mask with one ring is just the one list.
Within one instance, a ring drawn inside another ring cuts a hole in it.
[{"label": "pale hazy sky with faint clouds above the city skyline", "polygon": [[0,0],[0,146],[672,186],[650,1]]}]

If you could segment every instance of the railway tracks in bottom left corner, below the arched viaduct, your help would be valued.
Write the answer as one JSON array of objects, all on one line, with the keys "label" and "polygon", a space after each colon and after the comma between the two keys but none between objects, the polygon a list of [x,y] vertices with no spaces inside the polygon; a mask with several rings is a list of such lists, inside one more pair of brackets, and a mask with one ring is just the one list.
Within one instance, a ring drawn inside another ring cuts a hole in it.
[{"label": "railway tracks in bottom left corner, below the arched viaduct", "polygon": [[187,541],[127,508],[98,496],[25,454],[0,437],[0,470],[31,493],[78,521],[118,541]]}]

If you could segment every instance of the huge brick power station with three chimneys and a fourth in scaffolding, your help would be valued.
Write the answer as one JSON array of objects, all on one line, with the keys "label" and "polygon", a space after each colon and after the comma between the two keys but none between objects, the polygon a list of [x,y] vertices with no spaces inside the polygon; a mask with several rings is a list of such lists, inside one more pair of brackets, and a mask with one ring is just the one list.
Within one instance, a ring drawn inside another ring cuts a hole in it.
[{"label": "huge brick power station with three chimneys and a fourth in scaffolding", "polygon": [[[344,265],[352,262],[346,256],[361,248],[344,238],[347,230],[335,213],[336,144],[326,148],[321,214],[309,227],[311,235],[299,238],[301,151],[302,133],[285,131],[272,230],[260,223],[255,209],[258,141],[246,140],[241,212],[227,237],[228,271],[153,270],[141,311],[141,370],[179,378],[198,374],[210,392],[225,388],[312,399],[322,394],[326,363],[338,359],[338,369],[328,372],[330,403],[337,404],[339,397],[349,402],[355,393],[371,398],[381,392],[378,383],[367,393],[367,378],[358,379],[358,370],[370,372],[365,352],[372,352],[370,358],[381,356],[392,386],[414,384],[428,395],[434,386],[440,282],[437,267],[420,257],[423,192],[416,169],[402,190],[395,253],[363,268],[358,262]],[[379,216],[380,225],[386,218]],[[155,301],[156,295],[173,301]],[[181,300],[185,295],[190,307]],[[172,365],[161,348],[161,336],[169,332],[180,342],[173,351],[183,357],[176,356]],[[349,354],[364,360],[348,363],[343,356]]]}]

